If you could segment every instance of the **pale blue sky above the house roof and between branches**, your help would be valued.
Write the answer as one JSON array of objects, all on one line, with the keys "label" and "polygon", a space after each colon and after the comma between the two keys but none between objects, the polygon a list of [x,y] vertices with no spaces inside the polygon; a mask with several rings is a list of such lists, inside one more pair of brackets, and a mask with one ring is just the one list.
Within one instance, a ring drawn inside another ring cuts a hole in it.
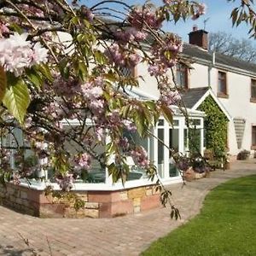
[{"label": "pale blue sky above the house roof and between branches", "polygon": [[[93,0],[82,0],[80,3],[91,6],[93,4],[99,3],[101,1]],[[143,0],[130,0],[123,1],[128,4],[140,4],[144,3]],[[151,0],[155,5],[162,4],[161,0]],[[235,38],[249,38],[247,32],[249,27],[241,24],[238,27],[232,27],[232,22],[230,20],[230,13],[234,7],[239,5],[238,0],[235,3],[228,3],[226,0],[204,0],[200,1],[207,5],[207,14],[201,16],[198,20],[186,20],[178,21],[176,25],[173,23],[165,24],[163,27],[165,31],[175,32],[183,41],[188,41],[188,33],[191,32],[192,27],[197,25],[199,29],[204,28],[204,20],[207,20],[206,30],[207,32],[227,32],[230,33]],[[117,8],[116,5],[109,5],[109,7]],[[256,46],[256,39],[249,39]]]}]

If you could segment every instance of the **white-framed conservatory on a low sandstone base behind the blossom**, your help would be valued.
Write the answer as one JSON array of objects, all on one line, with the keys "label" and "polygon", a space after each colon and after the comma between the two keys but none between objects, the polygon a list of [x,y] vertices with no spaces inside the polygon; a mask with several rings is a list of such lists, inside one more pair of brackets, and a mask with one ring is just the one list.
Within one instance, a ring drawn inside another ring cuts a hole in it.
[{"label": "white-framed conservatory on a low sandstone base behind the blossom", "polygon": [[[132,135],[132,139],[147,150],[148,158],[154,162],[160,181],[164,184],[182,181],[181,174],[172,161],[169,148],[181,154],[189,154],[188,127],[185,117],[177,107],[173,107],[172,111],[172,125],[166,119],[160,118],[152,131],[154,136],[143,139],[136,133]],[[193,127],[197,137],[197,148],[200,148],[202,154],[205,114],[189,109],[186,111],[189,114],[189,124]],[[72,122],[72,125],[78,125],[76,120]],[[68,123],[70,124],[70,121]],[[108,143],[108,137],[106,143]],[[99,150],[104,150],[104,147]],[[14,154],[12,155],[14,157]],[[14,161],[12,159],[11,163]],[[47,162],[47,159],[42,161]],[[67,202],[56,201],[52,196],[45,195],[44,190],[49,186],[54,190],[60,190],[59,185],[51,179],[50,170],[38,170],[38,177],[42,178],[23,180],[20,185],[8,183],[7,189],[0,187],[0,198],[2,197],[4,205],[20,212],[49,218],[111,218],[159,207],[160,192],[155,189],[156,178],[153,181],[148,180],[144,170],[136,166],[131,158],[127,158],[127,162],[131,172],[124,185],[121,181],[113,183],[108,170],[102,170],[96,163],[92,164],[92,169],[86,178],[77,178],[72,191],[85,202],[84,207],[79,211],[68,207]]]}]

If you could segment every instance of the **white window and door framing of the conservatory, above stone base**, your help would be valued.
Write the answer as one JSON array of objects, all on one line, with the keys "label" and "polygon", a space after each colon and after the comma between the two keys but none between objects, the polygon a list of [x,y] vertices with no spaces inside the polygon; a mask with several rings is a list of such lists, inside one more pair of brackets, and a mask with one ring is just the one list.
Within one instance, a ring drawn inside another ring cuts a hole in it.
[{"label": "white window and door framing of the conservatory, above stone base", "polygon": [[[164,143],[166,145],[169,144],[170,141],[170,130],[172,129],[177,129],[178,131],[178,152],[181,154],[188,154],[189,148],[186,148],[185,144],[188,144],[188,142],[184,142],[185,140],[185,131],[187,131],[187,125],[186,125],[186,120],[181,113],[181,111],[177,107],[172,108],[173,111],[173,125],[170,125],[163,117],[160,117],[160,121],[158,125],[154,128],[153,134],[153,142],[152,138],[148,139],[148,157],[150,160],[153,160],[154,165],[157,166],[158,174],[159,172],[159,165],[158,165],[158,154],[159,154],[159,140],[156,138],[158,137],[158,129],[163,129],[164,130]],[[201,111],[196,111],[196,110],[186,110],[187,113],[189,114],[189,119],[197,119],[199,124],[196,125],[196,129],[200,130],[201,134],[201,154],[203,153],[204,149],[204,116],[205,114]],[[160,125],[161,120],[163,120],[164,125]],[[65,124],[65,121],[62,121],[63,124]],[[79,125],[79,122],[74,120],[68,120],[68,124],[71,125]],[[187,138],[188,139],[188,138]],[[108,143],[108,137],[106,139],[106,143]],[[153,147],[153,148],[152,148]],[[171,183],[179,183],[182,182],[182,177],[180,175],[180,172],[177,172],[176,177],[170,177],[169,175],[169,168],[170,168],[170,150],[166,146],[163,147],[163,162],[161,165],[163,166],[163,172],[160,175],[160,181],[164,184],[171,184]],[[47,160],[44,159],[42,160],[42,164],[45,163]],[[48,177],[47,175],[47,170],[41,170],[39,177]],[[97,191],[115,191],[119,189],[131,189],[131,188],[137,188],[141,186],[148,186],[148,185],[153,185],[157,180],[157,177],[154,178],[153,181],[148,180],[148,177],[143,177],[140,179],[134,179],[134,180],[128,180],[125,182],[123,185],[121,181],[118,181],[117,183],[113,183],[112,176],[108,176],[108,169],[106,168],[105,170],[105,183],[74,183],[73,190],[79,190],[79,191],[90,191],[90,190],[97,190]],[[59,190],[60,187],[57,183],[50,183],[49,180],[47,179],[42,179],[37,183],[33,183],[30,181],[28,183],[27,181],[24,181],[20,183],[21,186],[29,187],[31,189],[38,189],[38,190],[44,190],[47,186],[52,186],[53,189]]]}]

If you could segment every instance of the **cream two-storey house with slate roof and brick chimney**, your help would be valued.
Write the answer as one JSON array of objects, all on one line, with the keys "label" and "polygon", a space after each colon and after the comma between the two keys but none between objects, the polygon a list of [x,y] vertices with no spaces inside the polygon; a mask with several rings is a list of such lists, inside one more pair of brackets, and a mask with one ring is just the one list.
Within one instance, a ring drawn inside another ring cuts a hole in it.
[{"label": "cream two-storey house with slate roof and brick chimney", "polygon": [[[190,95],[188,107],[197,109],[206,96],[214,97],[229,119],[227,148],[231,155],[256,149],[256,64],[207,50],[207,32],[189,33],[183,56],[192,69],[177,67],[178,85]],[[188,96],[187,95],[187,96]]]}]

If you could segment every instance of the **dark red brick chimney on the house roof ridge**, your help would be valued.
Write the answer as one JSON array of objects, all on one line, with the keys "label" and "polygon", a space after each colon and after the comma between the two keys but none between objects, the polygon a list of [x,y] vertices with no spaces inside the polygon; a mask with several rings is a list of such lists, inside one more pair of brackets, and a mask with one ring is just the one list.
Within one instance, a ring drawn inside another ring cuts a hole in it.
[{"label": "dark red brick chimney on the house roof ridge", "polygon": [[203,49],[208,49],[208,32],[193,26],[193,31],[189,32],[189,44],[195,44]]}]

